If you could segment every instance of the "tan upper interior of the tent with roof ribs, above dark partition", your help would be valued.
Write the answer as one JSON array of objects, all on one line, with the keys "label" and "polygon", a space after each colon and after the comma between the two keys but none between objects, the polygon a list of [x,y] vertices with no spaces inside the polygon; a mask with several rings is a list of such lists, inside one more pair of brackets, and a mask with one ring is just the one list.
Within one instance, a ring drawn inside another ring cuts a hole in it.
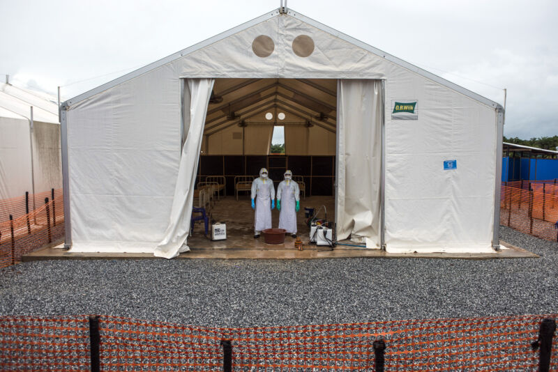
[{"label": "tan upper interior of the tent with roof ribs, above dark partition", "polygon": [[[204,153],[262,154],[267,148],[245,141],[234,146],[231,139],[242,139],[241,131],[272,131],[274,125],[286,129],[285,148],[289,155],[335,155],[336,79],[216,79],[204,128]],[[266,114],[271,112],[271,119]],[[278,114],[285,116],[278,117]],[[310,146],[296,141],[310,127],[312,137],[332,146]],[[232,133],[231,133],[232,132]],[[238,134],[237,136],[235,136]],[[329,134],[328,134],[329,133]],[[294,135],[290,135],[294,134]],[[246,133],[246,139],[250,133]],[[223,136],[227,136],[222,138]],[[310,153],[309,153],[310,152]]]}]

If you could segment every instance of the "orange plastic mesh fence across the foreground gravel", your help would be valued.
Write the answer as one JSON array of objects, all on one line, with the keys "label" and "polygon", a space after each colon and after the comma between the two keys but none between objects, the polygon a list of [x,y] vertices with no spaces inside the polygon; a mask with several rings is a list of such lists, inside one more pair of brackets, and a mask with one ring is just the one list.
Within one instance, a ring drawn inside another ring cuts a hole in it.
[{"label": "orange plastic mesh fence across the foreground gravel", "polygon": [[[220,371],[232,340],[234,371],[374,371],[384,339],[385,371],[534,371],[543,318],[400,320],[342,325],[215,328],[100,317],[101,371]],[[89,368],[86,316],[0,317],[3,370]],[[555,336],[551,370],[558,368]]]}]

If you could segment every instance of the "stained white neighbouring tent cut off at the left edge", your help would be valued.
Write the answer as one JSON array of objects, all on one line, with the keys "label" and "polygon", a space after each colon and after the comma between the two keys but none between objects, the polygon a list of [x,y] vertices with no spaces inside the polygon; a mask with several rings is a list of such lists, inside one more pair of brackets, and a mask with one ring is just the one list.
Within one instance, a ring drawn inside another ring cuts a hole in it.
[{"label": "stained white neighbouring tent cut off at the left edge", "polygon": [[[0,84],[0,200],[62,187],[60,124],[54,97]],[[10,210],[0,211],[0,220]]]}]

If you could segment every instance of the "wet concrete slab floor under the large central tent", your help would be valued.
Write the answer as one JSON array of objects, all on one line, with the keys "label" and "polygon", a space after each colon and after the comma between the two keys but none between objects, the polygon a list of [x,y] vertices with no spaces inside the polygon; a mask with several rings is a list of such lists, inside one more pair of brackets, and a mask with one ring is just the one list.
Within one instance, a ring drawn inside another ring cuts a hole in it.
[{"label": "wet concrete slab floor under the large central tent", "polygon": [[[253,221],[254,212],[250,207],[248,196],[239,196],[236,201],[234,196],[221,197],[211,208],[211,216],[217,222],[227,224],[227,240],[213,242],[204,236],[203,222],[197,222],[193,235],[188,238],[188,246],[191,251],[181,254],[179,259],[189,258],[221,258],[221,259],[309,259],[309,258],[352,258],[352,257],[383,257],[383,258],[466,258],[466,259],[492,259],[492,258],[527,258],[538,257],[529,251],[512,247],[505,242],[502,245],[508,247],[502,251],[494,251],[488,254],[389,254],[379,249],[365,249],[359,247],[348,247],[338,245],[335,249],[329,247],[316,247],[307,245],[309,228],[305,224],[304,208],[319,208],[325,206],[327,219],[335,219],[335,199],[333,196],[309,196],[301,200],[301,210],[298,213],[298,233],[303,241],[303,251],[294,247],[294,238],[285,236],[285,243],[280,245],[268,245],[264,237],[254,238]],[[322,211],[319,217],[325,217]],[[279,211],[272,211],[273,227],[279,223]],[[350,241],[347,243],[354,244]],[[58,247],[58,248],[57,248]],[[156,258],[149,253],[80,253],[60,249],[63,245],[52,245],[31,252],[22,257],[22,261],[39,261],[50,259],[112,259],[112,258]]]}]

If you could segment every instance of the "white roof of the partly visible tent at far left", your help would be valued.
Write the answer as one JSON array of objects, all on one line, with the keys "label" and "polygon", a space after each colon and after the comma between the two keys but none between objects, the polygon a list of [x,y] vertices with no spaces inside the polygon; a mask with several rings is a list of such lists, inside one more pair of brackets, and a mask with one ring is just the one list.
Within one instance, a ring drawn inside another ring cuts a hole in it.
[{"label": "white roof of the partly visible tent at far left", "polygon": [[33,107],[33,120],[59,123],[58,104],[54,97],[12,84],[0,84],[0,116],[29,120]]}]

